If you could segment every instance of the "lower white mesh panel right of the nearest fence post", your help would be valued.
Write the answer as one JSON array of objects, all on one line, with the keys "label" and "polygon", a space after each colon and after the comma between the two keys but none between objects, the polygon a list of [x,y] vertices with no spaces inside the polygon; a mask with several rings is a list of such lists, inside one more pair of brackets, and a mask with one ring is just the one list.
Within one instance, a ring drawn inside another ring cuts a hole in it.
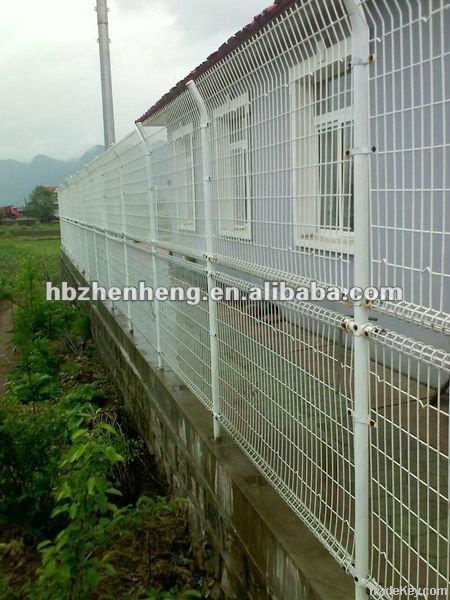
[{"label": "lower white mesh panel right of the nearest fence post", "polygon": [[370,575],[384,588],[447,589],[450,355],[389,338],[371,342]]}]

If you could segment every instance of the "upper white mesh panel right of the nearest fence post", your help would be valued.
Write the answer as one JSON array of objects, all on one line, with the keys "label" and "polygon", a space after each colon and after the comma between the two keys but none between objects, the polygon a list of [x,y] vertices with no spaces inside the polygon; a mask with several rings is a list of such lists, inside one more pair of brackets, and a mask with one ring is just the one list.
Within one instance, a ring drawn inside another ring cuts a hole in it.
[{"label": "upper white mesh panel right of the nearest fence post", "polygon": [[447,1],[365,2],[370,67],[371,276],[450,312]]}]

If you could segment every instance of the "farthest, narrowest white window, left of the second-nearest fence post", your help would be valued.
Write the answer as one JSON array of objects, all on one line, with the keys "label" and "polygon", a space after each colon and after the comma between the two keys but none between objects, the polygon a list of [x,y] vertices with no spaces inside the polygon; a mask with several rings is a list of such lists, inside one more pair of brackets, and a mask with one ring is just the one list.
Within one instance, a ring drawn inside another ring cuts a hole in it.
[{"label": "farthest, narrowest white window, left of the second-nearest fence post", "polygon": [[175,158],[174,197],[180,231],[195,231],[195,179],[192,125],[177,129],[172,135]]}]

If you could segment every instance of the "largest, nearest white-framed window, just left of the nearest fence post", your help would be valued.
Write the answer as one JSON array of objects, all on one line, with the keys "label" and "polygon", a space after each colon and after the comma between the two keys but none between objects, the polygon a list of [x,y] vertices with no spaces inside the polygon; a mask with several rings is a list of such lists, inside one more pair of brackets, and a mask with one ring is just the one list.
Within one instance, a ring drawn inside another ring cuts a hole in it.
[{"label": "largest, nearest white-framed window, just left of the nearest fence post", "polygon": [[298,245],[351,249],[353,172],[351,74],[346,42],[318,44],[291,71],[295,240]]}]

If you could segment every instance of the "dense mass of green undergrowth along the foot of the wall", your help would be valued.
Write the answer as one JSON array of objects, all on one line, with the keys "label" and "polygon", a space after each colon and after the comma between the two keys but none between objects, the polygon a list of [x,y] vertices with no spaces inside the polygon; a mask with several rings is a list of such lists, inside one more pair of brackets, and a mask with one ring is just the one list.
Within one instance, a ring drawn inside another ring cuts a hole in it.
[{"label": "dense mass of green undergrowth along the foot of the wall", "polygon": [[[0,526],[8,525],[14,535],[21,532],[28,550],[30,542],[34,548],[35,540],[49,539],[39,545],[42,564],[36,579],[25,573],[18,581],[16,574],[8,578],[0,572],[0,596],[97,597],[100,587],[114,589],[120,580],[123,555],[117,550],[127,540],[140,545],[140,560],[150,564],[155,543],[151,532],[155,524],[164,529],[166,521],[177,522],[177,515],[163,513],[175,511],[181,501],[143,496],[136,506],[124,506],[134,503],[141,491],[139,474],[147,472],[144,444],[122,429],[111,409],[114,392],[105,377],[99,384],[75,386],[77,380],[86,380],[85,375],[95,378],[98,372],[98,367],[83,371],[92,358],[87,352],[92,345],[86,345],[89,316],[80,307],[46,301],[43,282],[54,276],[56,261],[46,260],[44,251],[41,260],[26,254],[17,258],[12,242],[2,242],[5,247],[14,260],[0,276],[0,299],[14,304],[13,341],[20,364],[0,398]],[[71,368],[80,369],[83,377],[71,376]],[[106,408],[100,411],[98,405]],[[173,535],[178,540],[176,529]],[[159,536],[156,540],[158,544]],[[178,568],[179,563],[173,564]],[[185,572],[187,578],[170,575],[162,584],[168,581],[171,587],[176,581],[180,591],[148,588],[147,596],[199,597],[196,591],[184,590],[190,581],[187,568]],[[139,597],[149,582],[150,577],[141,582]]]}]

